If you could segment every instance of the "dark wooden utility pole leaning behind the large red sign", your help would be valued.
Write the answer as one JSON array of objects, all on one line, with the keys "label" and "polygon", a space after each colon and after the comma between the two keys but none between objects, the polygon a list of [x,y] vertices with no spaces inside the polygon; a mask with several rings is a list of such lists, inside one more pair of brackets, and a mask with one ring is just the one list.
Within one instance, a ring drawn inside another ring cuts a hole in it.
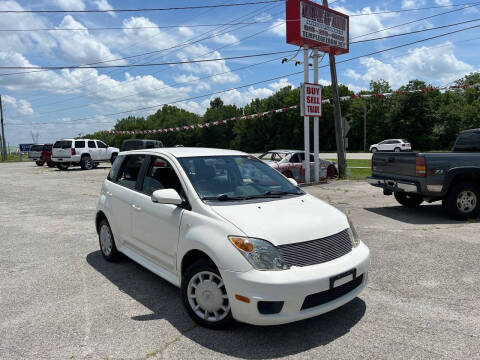
[{"label": "dark wooden utility pole leaning behind the large red sign", "polygon": [[[328,0],[323,0],[323,6],[328,8]],[[330,60],[330,77],[332,78],[332,98],[333,98],[333,117],[335,119],[335,140],[337,143],[338,176],[345,179],[346,163],[345,142],[343,138],[342,110],[340,108],[340,98],[338,96],[337,66],[335,64],[335,55],[328,54]]]}]

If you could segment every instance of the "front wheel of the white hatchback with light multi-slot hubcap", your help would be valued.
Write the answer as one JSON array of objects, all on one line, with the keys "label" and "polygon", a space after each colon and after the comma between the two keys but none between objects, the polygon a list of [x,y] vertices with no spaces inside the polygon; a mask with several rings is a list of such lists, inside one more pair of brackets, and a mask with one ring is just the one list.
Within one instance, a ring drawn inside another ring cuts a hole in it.
[{"label": "front wheel of the white hatchback with light multi-slot hubcap", "polygon": [[232,321],[225,284],[212,262],[200,260],[192,264],[183,276],[181,292],[183,305],[197,324],[218,329]]}]

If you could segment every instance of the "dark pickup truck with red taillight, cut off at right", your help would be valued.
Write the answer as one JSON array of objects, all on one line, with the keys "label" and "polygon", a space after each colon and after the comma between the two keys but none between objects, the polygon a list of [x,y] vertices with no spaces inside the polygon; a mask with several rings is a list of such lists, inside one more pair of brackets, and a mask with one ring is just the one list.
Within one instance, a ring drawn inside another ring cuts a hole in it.
[{"label": "dark pickup truck with red taillight, cut off at right", "polygon": [[368,182],[408,207],[442,200],[458,220],[480,214],[480,129],[460,133],[451,153],[381,153]]}]

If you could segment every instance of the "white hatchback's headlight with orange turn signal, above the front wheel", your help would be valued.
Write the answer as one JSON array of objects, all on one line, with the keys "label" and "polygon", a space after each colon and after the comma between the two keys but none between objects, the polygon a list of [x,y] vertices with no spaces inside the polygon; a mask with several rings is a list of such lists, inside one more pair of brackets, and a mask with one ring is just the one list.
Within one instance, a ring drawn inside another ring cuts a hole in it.
[{"label": "white hatchback's headlight with orange turn signal, above the front wheel", "polygon": [[257,270],[289,269],[275,246],[266,240],[241,236],[229,236],[228,239]]}]

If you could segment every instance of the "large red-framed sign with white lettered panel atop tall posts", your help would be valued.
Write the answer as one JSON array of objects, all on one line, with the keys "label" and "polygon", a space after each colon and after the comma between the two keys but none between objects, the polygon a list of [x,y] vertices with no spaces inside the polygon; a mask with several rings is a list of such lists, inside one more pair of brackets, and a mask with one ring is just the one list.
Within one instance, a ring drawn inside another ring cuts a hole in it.
[{"label": "large red-framed sign with white lettered panel atop tall posts", "polygon": [[287,43],[339,55],[349,52],[348,15],[309,0],[287,0]]}]

